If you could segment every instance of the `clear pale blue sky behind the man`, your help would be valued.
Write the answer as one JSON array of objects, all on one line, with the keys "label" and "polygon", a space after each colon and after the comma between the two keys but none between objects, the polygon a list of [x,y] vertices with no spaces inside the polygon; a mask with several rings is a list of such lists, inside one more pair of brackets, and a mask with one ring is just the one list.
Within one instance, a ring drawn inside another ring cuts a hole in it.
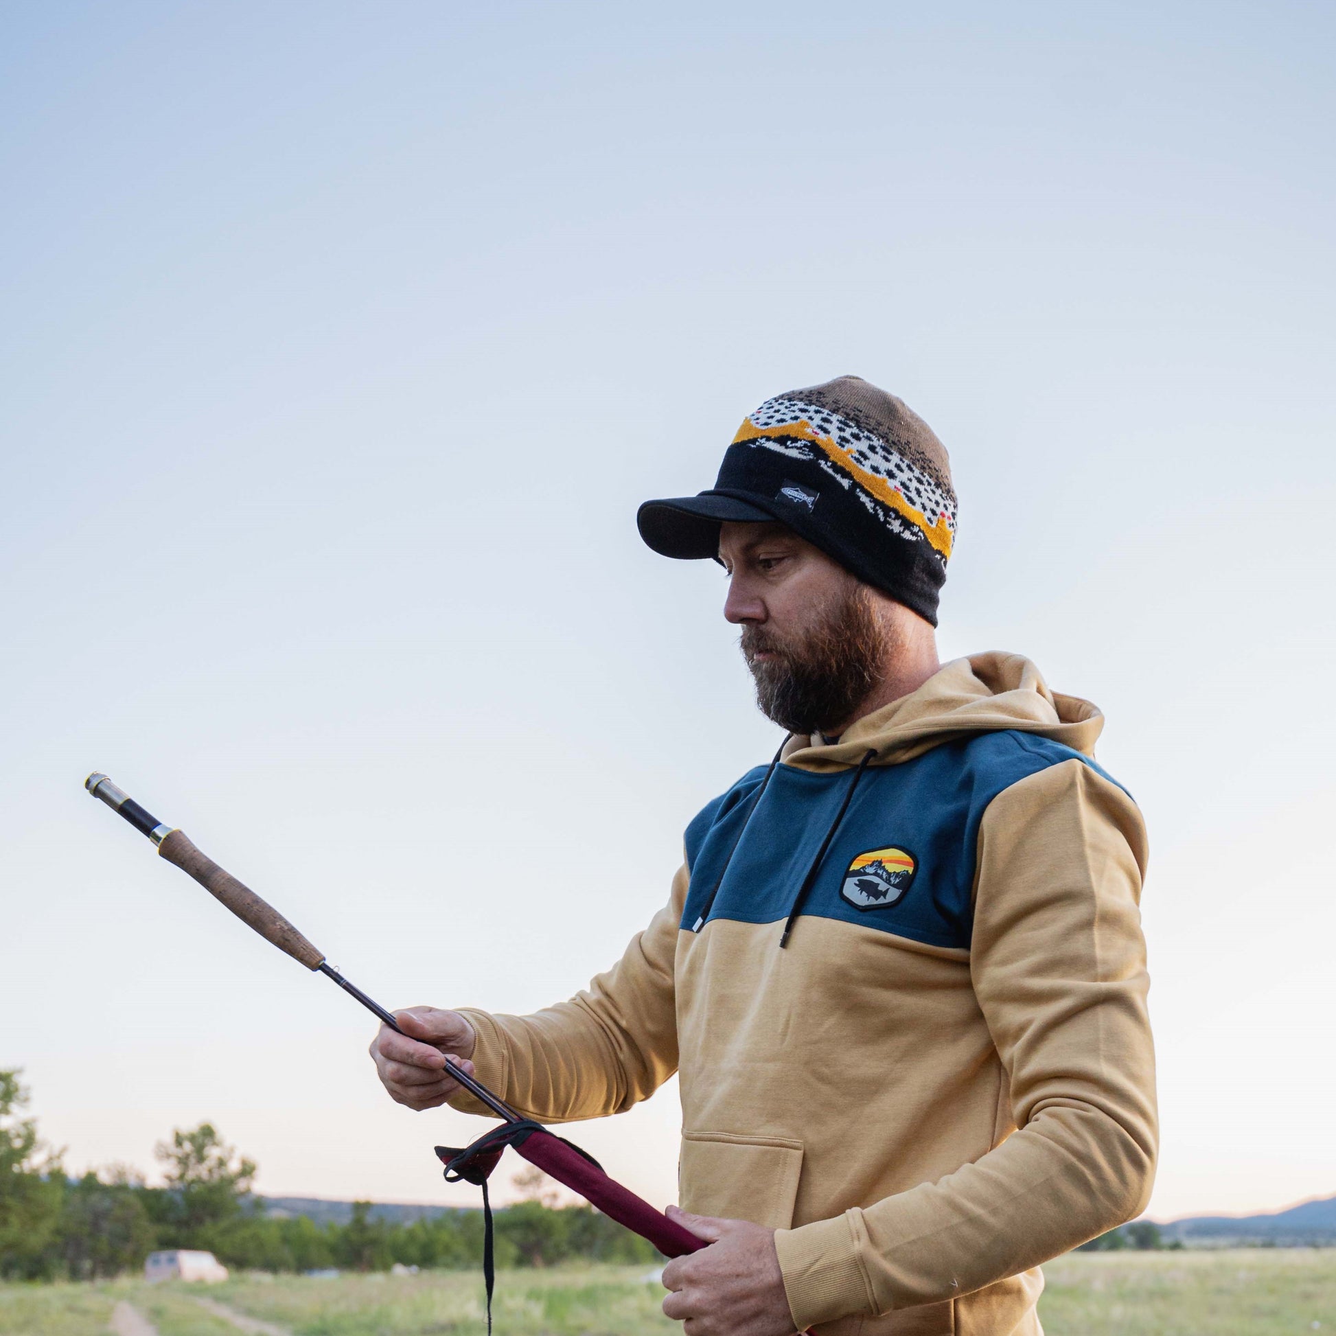
[{"label": "clear pale blue sky behind the man", "polygon": [[[0,1065],[76,1168],[465,1201],[371,1027],[528,1010],[776,731],[635,508],[762,399],[900,394],[947,656],[1108,715],[1152,834],[1153,1213],[1336,1193],[1336,9],[69,4],[0,17]],[[887,1075],[894,1079],[894,1074]],[[673,1193],[664,1090],[576,1133]]]}]

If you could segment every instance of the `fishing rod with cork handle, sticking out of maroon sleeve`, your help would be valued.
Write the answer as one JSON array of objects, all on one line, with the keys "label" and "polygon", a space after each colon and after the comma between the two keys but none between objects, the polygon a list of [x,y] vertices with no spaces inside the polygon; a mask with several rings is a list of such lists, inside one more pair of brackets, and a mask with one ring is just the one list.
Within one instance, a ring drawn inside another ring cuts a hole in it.
[{"label": "fishing rod with cork handle, sticking out of maroon sleeve", "polygon": [[[247,927],[254,929],[265,941],[273,942],[281,951],[299,961],[306,969],[333,979],[345,993],[357,998],[367,1011],[377,1015],[397,1034],[403,1034],[393,1013],[386,1011],[379,1002],[369,998],[355,983],[350,983],[335,970],[325,953],[309,942],[271,904],[262,900],[248,886],[243,886],[231,872],[219,867],[211,858],[202,854],[184,831],[158,820],[139,806],[127,792],[118,788],[106,775],[94,771],[84,788],[94,798],[100,798],[114,812],[122,815],[140,835],[147,835],[158,846],[159,858],[175,863],[187,876],[192,876],[219,903],[230,908]],[[405,1035],[411,1039],[413,1035]],[[450,1077],[465,1090],[482,1101],[498,1118],[506,1122],[524,1122],[504,1100],[494,1096],[481,1081],[462,1071],[446,1058]]]}]

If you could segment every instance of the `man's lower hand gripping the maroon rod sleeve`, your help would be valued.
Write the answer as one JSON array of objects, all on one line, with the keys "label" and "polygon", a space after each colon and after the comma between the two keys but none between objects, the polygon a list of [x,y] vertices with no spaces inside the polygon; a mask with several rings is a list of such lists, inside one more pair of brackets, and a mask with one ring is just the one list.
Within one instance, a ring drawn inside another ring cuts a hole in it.
[{"label": "man's lower hand gripping the maroon rod sleeve", "polygon": [[685,1323],[687,1336],[794,1336],[794,1315],[775,1252],[775,1230],[747,1220],[668,1214],[709,1246],[664,1267],[672,1293],[664,1313]]}]

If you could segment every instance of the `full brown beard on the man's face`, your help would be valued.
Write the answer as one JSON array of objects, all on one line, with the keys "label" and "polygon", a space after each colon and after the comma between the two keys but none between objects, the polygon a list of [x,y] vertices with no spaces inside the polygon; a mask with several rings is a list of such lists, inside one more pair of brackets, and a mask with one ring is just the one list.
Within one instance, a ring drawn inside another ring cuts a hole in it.
[{"label": "full brown beard on the man's face", "polygon": [[767,719],[791,733],[830,733],[852,721],[880,681],[888,641],[867,591],[851,584],[806,631],[780,636],[748,624],[740,645]]}]

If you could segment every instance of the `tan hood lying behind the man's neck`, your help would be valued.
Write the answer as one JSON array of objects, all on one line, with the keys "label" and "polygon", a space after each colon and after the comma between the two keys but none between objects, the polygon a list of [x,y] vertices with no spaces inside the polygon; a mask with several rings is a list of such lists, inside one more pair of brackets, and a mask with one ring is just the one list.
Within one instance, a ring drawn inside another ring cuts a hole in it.
[{"label": "tan hood lying behind the man's neck", "polygon": [[1088,700],[1049,691],[1022,655],[990,651],[943,664],[918,691],[864,715],[838,743],[791,739],[783,760],[799,770],[847,770],[872,748],[871,764],[895,766],[955,737],[1005,728],[1093,756],[1104,715]]}]

